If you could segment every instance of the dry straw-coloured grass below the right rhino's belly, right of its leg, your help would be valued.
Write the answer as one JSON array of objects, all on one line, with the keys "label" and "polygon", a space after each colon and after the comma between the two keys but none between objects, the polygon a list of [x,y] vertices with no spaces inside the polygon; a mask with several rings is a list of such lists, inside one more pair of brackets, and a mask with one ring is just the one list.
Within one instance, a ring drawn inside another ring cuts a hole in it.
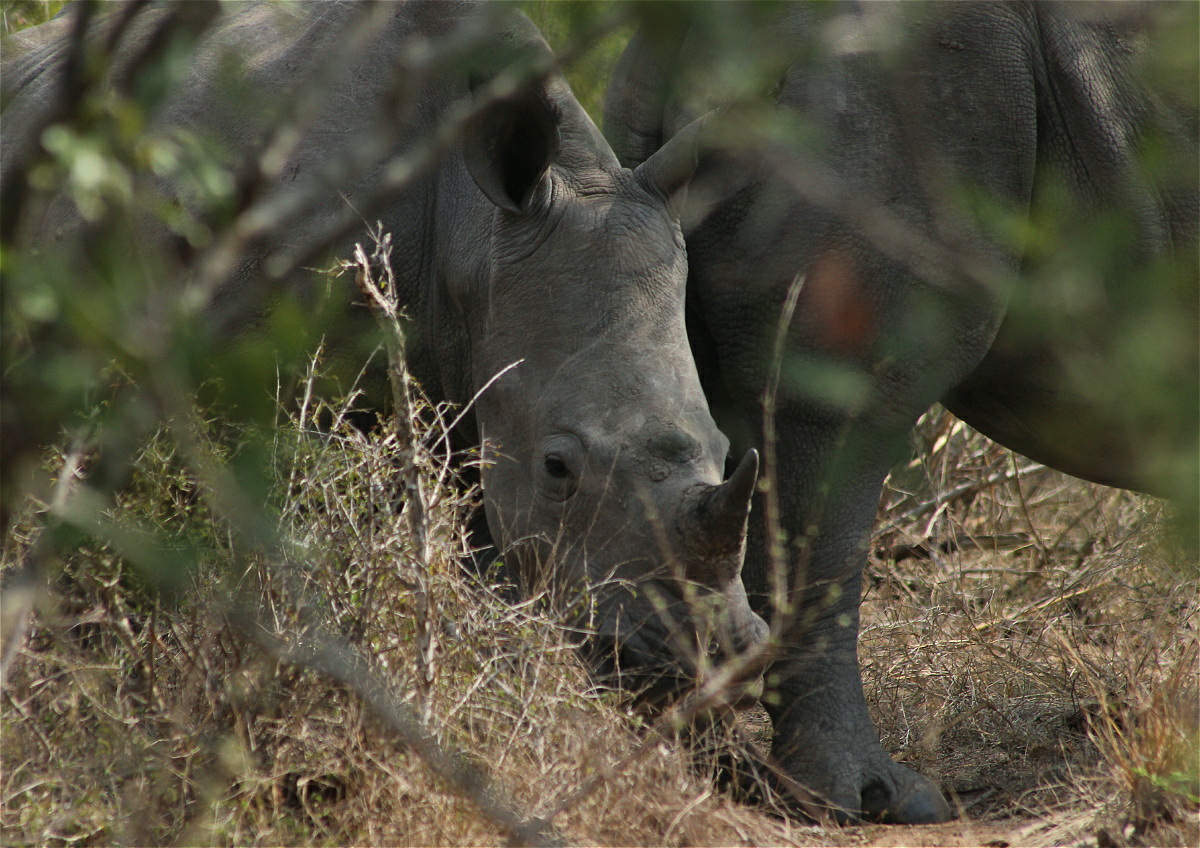
[{"label": "dry straw-coloured grass below the right rhino's belly, right of its leg", "polygon": [[916,438],[866,579],[884,746],[965,816],[1021,820],[1014,842],[1200,843],[1198,571],[1162,505],[1032,467],[946,413]]}]

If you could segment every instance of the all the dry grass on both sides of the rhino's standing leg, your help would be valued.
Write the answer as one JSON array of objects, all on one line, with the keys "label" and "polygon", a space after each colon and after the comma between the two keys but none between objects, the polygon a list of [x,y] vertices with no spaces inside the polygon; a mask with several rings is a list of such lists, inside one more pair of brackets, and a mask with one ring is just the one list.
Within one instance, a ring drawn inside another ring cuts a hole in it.
[{"label": "all the dry grass on both sides of the rhino's standing leg", "polygon": [[[238,549],[166,438],[145,450],[121,513],[190,540],[203,565],[163,596],[104,548],[61,564],[4,692],[0,841],[503,841],[355,692],[254,639],[256,621],[293,643],[313,623],[335,630],[504,804],[581,843],[1200,838],[1196,571],[1163,543],[1153,503],[1034,469],[914,509],[1014,468],[949,416],[923,421],[919,459],[884,493],[862,655],[884,745],[967,820],[827,831],[714,788],[710,763],[590,684],[545,605],[468,578],[469,493],[431,489],[434,557],[416,573],[395,445],[314,426],[335,413],[305,408],[251,439],[276,474],[289,540],[277,563]],[[28,543],[28,529],[8,540],[7,572]]]}]

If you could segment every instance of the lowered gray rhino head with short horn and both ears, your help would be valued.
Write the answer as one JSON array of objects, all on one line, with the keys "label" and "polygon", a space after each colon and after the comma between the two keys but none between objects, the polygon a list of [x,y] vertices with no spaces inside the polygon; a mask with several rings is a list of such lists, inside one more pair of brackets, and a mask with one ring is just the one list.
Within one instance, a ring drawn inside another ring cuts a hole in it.
[{"label": "lowered gray rhino head with short horn and both ears", "polygon": [[684,327],[672,202],[695,134],[623,169],[553,77],[478,130],[463,157],[494,218],[473,385],[504,372],[475,413],[488,528],[602,673],[668,694],[767,631],[740,577],[757,455],[722,482]]}]

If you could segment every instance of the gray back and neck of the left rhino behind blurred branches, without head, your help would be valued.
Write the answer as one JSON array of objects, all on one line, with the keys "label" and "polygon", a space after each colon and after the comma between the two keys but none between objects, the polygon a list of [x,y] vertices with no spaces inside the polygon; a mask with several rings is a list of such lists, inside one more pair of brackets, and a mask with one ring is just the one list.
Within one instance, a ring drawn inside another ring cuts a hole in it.
[{"label": "gray back and neck of the left rhino behind blurred branches, without head", "polygon": [[[154,36],[170,12],[170,5],[163,5],[133,20],[113,56],[109,77],[121,72],[122,62]],[[398,85],[395,77],[406,62],[412,65],[414,49],[437,46],[479,17],[479,7],[472,4],[421,0],[374,7],[373,17],[371,4],[226,4],[186,61],[168,66],[176,76],[163,97],[150,102],[148,133],[198,139],[233,181],[280,126],[294,122],[300,132],[298,142],[286,161],[265,163],[269,179],[259,191],[270,200],[287,203],[294,188],[320,187],[318,202],[284,225],[268,228],[266,237],[244,254],[215,293],[206,319],[218,336],[236,344],[269,312],[278,287],[264,278],[271,257],[302,254],[307,245],[318,242],[348,209],[359,209],[374,192],[389,164],[427,140],[446,110],[469,95],[468,70],[461,65],[434,67],[421,78],[410,74],[410,82]],[[64,14],[5,42],[5,144],[0,145],[5,174],[41,142],[28,131],[44,126],[41,119],[60,97],[71,23],[71,16]],[[106,22],[96,29],[103,35]],[[532,25],[522,30],[511,23],[502,37],[530,43],[539,40]],[[348,38],[358,38],[353,42],[356,49],[340,54]],[[324,95],[306,102],[312,91]],[[396,92],[402,95],[400,100]],[[366,157],[367,167],[348,164],[380,137],[390,143],[378,155]],[[205,213],[205,200],[175,174],[139,178],[150,180],[168,203],[198,217]],[[451,152],[434,168],[416,173],[376,215],[332,247],[332,253],[348,255],[353,242],[365,241],[367,225],[377,219],[391,234],[397,283],[413,325],[410,365],[437,399],[464,401],[470,396],[463,317],[452,313],[455,297],[439,287],[461,285],[464,278],[478,276],[492,209],[467,175],[461,156]],[[452,219],[439,224],[446,216]],[[77,204],[62,192],[36,215],[26,216],[19,237],[44,249],[72,242],[84,223]],[[168,260],[184,239],[155,216],[139,223],[138,237],[157,245]],[[178,271],[187,273],[182,266]],[[316,302],[322,284],[319,276],[299,272],[289,275],[282,288],[301,302]],[[340,299],[353,296],[353,282],[344,275],[334,284],[343,289]],[[325,335],[326,350],[334,359],[361,363],[364,348],[371,347],[364,338],[374,338],[373,321],[362,308],[335,312]]]}]

